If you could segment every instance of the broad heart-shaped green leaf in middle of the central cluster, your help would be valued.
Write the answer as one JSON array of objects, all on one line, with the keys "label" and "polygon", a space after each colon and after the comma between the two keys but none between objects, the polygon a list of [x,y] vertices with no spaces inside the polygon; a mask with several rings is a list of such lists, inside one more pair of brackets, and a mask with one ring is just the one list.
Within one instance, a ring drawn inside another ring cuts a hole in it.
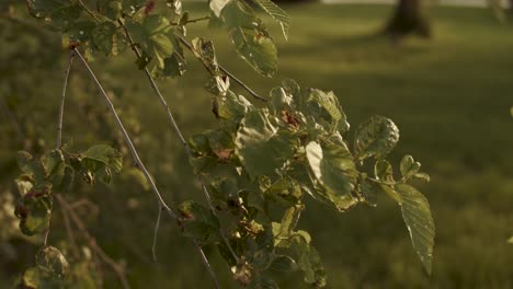
[{"label": "broad heart-shaped green leaf in middle of the central cluster", "polygon": [[269,117],[266,111],[249,112],[237,131],[236,154],[251,180],[259,175],[275,175],[295,150],[294,135],[278,132]]}]

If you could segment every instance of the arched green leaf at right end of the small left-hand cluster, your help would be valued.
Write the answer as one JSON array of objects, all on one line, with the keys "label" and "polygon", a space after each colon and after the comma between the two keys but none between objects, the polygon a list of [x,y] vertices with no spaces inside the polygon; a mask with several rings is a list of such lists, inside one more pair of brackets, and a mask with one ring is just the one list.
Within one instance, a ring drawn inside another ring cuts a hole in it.
[{"label": "arched green leaf at right end of the small left-hand cluster", "polygon": [[82,162],[91,161],[93,163],[91,169],[96,169],[96,163],[101,163],[104,166],[114,170],[114,172],[116,173],[119,173],[123,169],[122,153],[118,150],[106,144],[93,146],[89,148],[86,152],[82,152],[81,157]]}]

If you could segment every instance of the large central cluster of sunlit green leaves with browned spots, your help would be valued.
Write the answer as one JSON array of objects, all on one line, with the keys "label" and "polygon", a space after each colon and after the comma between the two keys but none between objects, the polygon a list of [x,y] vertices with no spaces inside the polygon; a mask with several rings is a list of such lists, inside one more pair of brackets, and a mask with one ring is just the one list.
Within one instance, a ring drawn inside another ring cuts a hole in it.
[{"label": "large central cluster of sunlit green leaves with browned spots", "polygon": [[[235,263],[224,255],[242,285],[270,286],[266,271],[287,264],[286,270],[301,270],[306,282],[323,287],[326,273],[309,234],[295,231],[304,196],[346,211],[360,203],[375,206],[377,195],[385,194],[401,207],[413,247],[430,271],[433,219],[425,197],[407,184],[429,176],[406,155],[401,177],[395,178],[384,158],[399,140],[396,125],[372,117],[356,129],[351,150],[350,125],[332,92],[300,88],[287,79],[270,96],[265,107],[256,107],[229,90],[215,95],[215,114],[223,126],[194,136],[190,144],[191,163],[208,180],[220,217],[185,203],[184,233],[216,243],[219,231],[226,230],[241,259]],[[369,159],[375,160],[371,174],[362,169]],[[226,251],[224,245],[220,251]]]}]

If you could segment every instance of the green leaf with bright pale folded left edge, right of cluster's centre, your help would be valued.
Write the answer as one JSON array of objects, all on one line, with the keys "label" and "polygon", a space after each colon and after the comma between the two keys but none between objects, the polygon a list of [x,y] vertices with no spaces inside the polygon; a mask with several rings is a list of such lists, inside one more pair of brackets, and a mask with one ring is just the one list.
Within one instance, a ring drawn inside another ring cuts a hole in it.
[{"label": "green leaf with bright pale folded left edge, right of cluster's centre", "polygon": [[339,210],[346,209],[345,205],[354,205],[351,192],[356,185],[358,172],[347,147],[331,143],[320,146],[311,141],[305,150],[311,172],[327,190],[327,197]]}]

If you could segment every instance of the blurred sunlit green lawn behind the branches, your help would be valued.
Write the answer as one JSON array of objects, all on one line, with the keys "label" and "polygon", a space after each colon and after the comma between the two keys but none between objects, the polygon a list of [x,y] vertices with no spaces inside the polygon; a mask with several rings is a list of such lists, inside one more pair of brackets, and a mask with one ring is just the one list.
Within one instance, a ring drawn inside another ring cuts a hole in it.
[{"label": "blurred sunlit green lawn behind the branches", "polygon": [[[196,3],[185,8],[206,14]],[[193,24],[189,34],[214,39],[219,62],[263,95],[289,77],[304,86],[333,90],[353,128],[374,114],[392,118],[401,139],[390,159],[398,163],[410,153],[432,176],[421,185],[436,223],[431,277],[410,245],[399,209],[387,197],[375,209],[361,206],[342,215],[308,204],[299,228],[311,232],[330,288],[512,288],[513,246],[506,240],[513,232],[513,26],[497,23],[488,10],[437,8],[430,11],[433,39],[391,43],[377,35],[390,7],[301,4],[285,10],[293,20],[288,43],[266,19],[280,49],[274,79],[258,76],[238,59],[225,32]],[[127,58],[93,66],[130,85],[118,104],[140,108],[135,114],[146,131],[144,159],[173,199],[189,198],[198,190],[185,155],[144,76]],[[201,88],[207,74],[194,59],[190,63],[182,79],[160,83],[186,136],[215,126],[209,95]],[[60,80],[49,81],[58,93]],[[159,163],[167,153],[178,157]],[[102,211],[99,222],[115,222],[109,213]],[[138,224],[147,228],[133,232],[133,243],[145,244],[145,252],[153,217],[148,212]],[[128,254],[117,247],[118,240],[102,240],[101,229],[96,233],[107,251]],[[160,265],[128,261],[136,288],[208,287],[200,259],[176,234],[173,226],[163,228]],[[215,250],[209,254],[223,288],[237,288]],[[282,276],[281,285],[305,287],[299,275]]]}]

